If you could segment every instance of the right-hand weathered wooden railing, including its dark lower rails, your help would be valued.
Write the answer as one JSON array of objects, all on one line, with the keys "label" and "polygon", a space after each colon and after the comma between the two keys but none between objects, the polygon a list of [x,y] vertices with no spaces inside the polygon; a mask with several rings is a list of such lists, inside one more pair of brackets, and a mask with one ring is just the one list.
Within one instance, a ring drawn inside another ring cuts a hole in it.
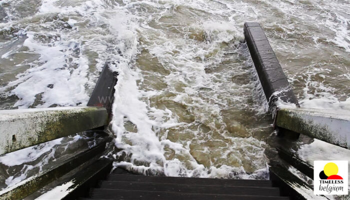
[{"label": "right-hand weathered wooden railing, including its dark lower rails", "polygon": [[[309,136],[350,149],[350,113],[300,108],[259,23],[244,24],[244,36],[268,101],[274,128],[283,135]],[[298,199],[312,198],[310,187],[288,171],[288,165],[313,178],[313,168],[288,149],[277,148],[283,163],[271,161],[270,178]],[[322,199],[323,197],[317,197]]]}]

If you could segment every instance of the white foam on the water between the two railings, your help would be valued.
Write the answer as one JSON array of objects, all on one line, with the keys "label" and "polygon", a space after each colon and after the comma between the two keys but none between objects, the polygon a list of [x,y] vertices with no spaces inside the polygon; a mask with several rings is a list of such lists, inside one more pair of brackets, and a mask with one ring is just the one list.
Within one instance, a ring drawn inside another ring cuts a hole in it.
[{"label": "white foam on the water between the two railings", "polygon": [[[174,3],[173,5],[172,2],[169,2],[164,6],[173,7],[177,4],[180,4],[180,6],[176,9],[186,9],[186,6],[200,9],[197,4],[187,5],[184,2]],[[159,7],[156,8],[159,9]],[[137,10],[135,7],[133,9]],[[150,76],[148,72],[139,70],[138,67],[142,67],[139,66],[142,63],[139,63],[138,60],[131,65],[132,68],[130,68],[130,65],[124,65],[124,63],[117,65],[116,70],[119,75],[118,83],[115,86],[112,131],[116,133],[115,144],[121,151],[114,157],[118,159],[126,155],[126,159],[123,159],[126,162],[116,163],[115,166],[122,166],[130,171],[143,174],[164,174],[166,176],[266,179],[267,160],[262,147],[264,144],[254,138],[225,136],[226,131],[218,133],[222,134],[220,137],[225,137],[230,141],[228,144],[232,143],[237,146],[223,148],[221,150],[223,153],[217,156],[221,158],[237,156],[237,160],[244,156],[250,159],[255,158],[250,163],[252,164],[251,169],[244,169],[246,166],[243,167],[243,164],[238,164],[237,167],[227,166],[223,163],[219,165],[212,163],[211,166],[204,164],[204,166],[200,164],[200,162],[205,162],[201,157],[203,153],[212,154],[212,150],[203,146],[202,150],[194,148],[195,152],[192,152],[193,146],[197,144],[191,144],[191,140],[193,140],[191,137],[194,137],[194,141],[199,141],[199,143],[216,139],[214,136],[210,139],[210,135],[215,134],[217,128],[214,124],[211,124],[211,119],[208,119],[205,115],[211,113],[216,116],[221,109],[217,104],[208,104],[205,97],[200,97],[198,89],[207,88],[218,93],[225,92],[224,89],[220,88],[222,83],[215,81],[217,80],[217,74],[206,73],[205,68],[213,67],[222,61],[223,53],[219,51],[219,46],[222,42],[229,42],[234,39],[238,31],[231,23],[226,21],[219,23],[216,21],[215,23],[212,20],[199,20],[197,23],[188,21],[188,27],[184,27],[202,31],[199,36],[191,35],[188,29],[189,34],[184,37],[178,37],[176,34],[168,35],[171,33],[167,32],[166,29],[159,29],[158,25],[161,27],[164,24],[169,28],[179,25],[176,22],[168,22],[165,18],[168,15],[176,15],[175,12],[174,10],[160,11],[160,16],[152,19],[155,22],[151,21],[141,30],[144,36],[141,37],[142,43],[139,46],[140,49],[143,49],[141,54],[149,52],[151,57],[156,58],[158,64],[164,68],[164,70],[152,70],[154,73],[151,75],[156,74],[167,87],[159,90],[144,84]],[[170,24],[167,25],[166,23]],[[143,24],[142,26],[144,27]],[[180,27],[177,28],[179,28],[179,32],[182,32]],[[177,30],[174,32],[177,33]],[[153,35],[156,35],[156,37],[154,38]],[[194,38],[194,40],[188,40],[188,36]],[[200,38],[200,36],[204,38]],[[196,39],[203,39],[204,42],[198,43]],[[196,57],[200,60],[193,59]],[[202,61],[205,59],[207,59],[207,62]],[[181,86],[177,87],[178,85]],[[168,94],[170,97],[167,96]],[[235,97],[230,96],[229,98]],[[217,101],[216,99],[212,100]],[[184,119],[188,116],[178,116],[179,113],[174,112],[170,105],[168,105],[170,107],[156,105],[157,102],[162,101],[178,103],[187,107],[187,110],[193,109],[192,112],[189,111],[191,112],[189,115],[193,114],[196,120],[190,122],[191,119]],[[221,104],[224,105],[225,102],[221,102]],[[202,113],[198,113],[198,111]],[[218,120],[222,123],[222,119]],[[134,129],[133,131],[127,130],[125,125],[129,123],[137,131],[134,131]],[[173,131],[188,132],[190,131],[189,127],[197,126],[197,124],[205,124],[213,130],[212,133],[203,134],[191,131],[194,136],[189,136],[189,138],[185,136],[184,139],[179,138],[177,141],[170,136],[170,134],[174,134]],[[188,141],[185,139],[188,139]],[[244,148],[245,145],[252,148],[252,151]],[[231,154],[237,149],[244,149],[244,152],[240,152],[240,155]],[[258,154],[258,152],[261,154]],[[197,156],[193,156],[193,154]],[[210,158],[204,159],[208,159],[210,162]],[[250,172],[247,174],[245,170]]]}]

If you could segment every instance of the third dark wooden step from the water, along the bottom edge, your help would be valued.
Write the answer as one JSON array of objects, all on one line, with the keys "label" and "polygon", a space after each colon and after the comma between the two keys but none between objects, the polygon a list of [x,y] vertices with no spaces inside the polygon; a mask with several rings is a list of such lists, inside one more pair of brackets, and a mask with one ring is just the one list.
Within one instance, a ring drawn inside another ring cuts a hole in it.
[{"label": "third dark wooden step from the water, along the bottom edge", "polygon": [[91,199],[105,200],[290,200],[287,197],[188,194],[102,188],[91,189],[89,195]]}]

